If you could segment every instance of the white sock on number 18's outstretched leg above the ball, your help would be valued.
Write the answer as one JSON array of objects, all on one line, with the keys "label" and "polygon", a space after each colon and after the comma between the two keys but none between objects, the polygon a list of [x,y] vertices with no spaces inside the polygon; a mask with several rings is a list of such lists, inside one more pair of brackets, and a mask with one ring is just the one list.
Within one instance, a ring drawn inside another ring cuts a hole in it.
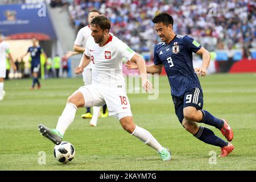
[{"label": "white sock on number 18's outstretched leg above the ball", "polygon": [[59,117],[56,130],[58,130],[62,135],[64,135],[65,131],[68,129],[69,125],[74,121],[76,115],[77,107],[75,104],[71,102],[67,102],[63,113]]}]

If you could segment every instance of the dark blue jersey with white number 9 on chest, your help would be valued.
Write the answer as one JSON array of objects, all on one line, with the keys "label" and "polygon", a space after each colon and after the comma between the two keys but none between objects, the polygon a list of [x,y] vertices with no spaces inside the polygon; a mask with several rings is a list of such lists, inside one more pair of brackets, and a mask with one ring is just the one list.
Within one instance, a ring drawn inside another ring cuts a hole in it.
[{"label": "dark blue jersey with white number 9 on chest", "polygon": [[175,35],[170,43],[160,42],[154,49],[154,64],[163,64],[171,86],[172,96],[180,97],[193,88],[201,89],[192,63],[192,52],[201,48],[189,36]]}]

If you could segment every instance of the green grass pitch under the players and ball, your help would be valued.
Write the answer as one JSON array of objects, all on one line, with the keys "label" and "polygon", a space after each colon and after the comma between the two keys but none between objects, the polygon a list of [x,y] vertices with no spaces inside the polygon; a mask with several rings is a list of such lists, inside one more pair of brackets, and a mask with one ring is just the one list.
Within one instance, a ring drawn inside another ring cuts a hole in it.
[{"label": "green grass pitch under the players and ball", "polygon": [[[255,170],[256,169],[256,74],[217,74],[200,78],[204,109],[229,121],[236,147],[226,158],[209,164],[210,151],[220,148],[197,140],[180,125],[170,96],[167,77],[159,78],[158,100],[147,94],[128,94],[134,121],[170,148],[172,160],[162,162],[152,148],[129,135],[113,117],[100,118],[97,127],[80,115],[64,139],[76,149],[71,163],[53,157],[53,147],[38,125],[55,127],[67,97],[83,84],[81,78],[49,79],[42,89],[30,90],[31,80],[5,82],[6,96],[0,101],[0,170]],[[207,126],[225,139],[221,132]],[[40,151],[46,164],[39,164]]]}]

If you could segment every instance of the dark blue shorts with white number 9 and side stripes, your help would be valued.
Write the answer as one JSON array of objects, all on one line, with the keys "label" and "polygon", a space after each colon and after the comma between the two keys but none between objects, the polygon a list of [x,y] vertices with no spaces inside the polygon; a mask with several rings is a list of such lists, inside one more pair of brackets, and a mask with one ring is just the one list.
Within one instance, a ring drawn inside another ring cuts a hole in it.
[{"label": "dark blue shorts with white number 9 and side stripes", "polygon": [[199,88],[190,89],[187,90],[185,94],[181,97],[172,96],[172,101],[174,101],[175,114],[177,115],[177,118],[182,125],[182,121],[184,119],[184,107],[192,106],[195,107],[197,110],[203,109],[203,92]]}]

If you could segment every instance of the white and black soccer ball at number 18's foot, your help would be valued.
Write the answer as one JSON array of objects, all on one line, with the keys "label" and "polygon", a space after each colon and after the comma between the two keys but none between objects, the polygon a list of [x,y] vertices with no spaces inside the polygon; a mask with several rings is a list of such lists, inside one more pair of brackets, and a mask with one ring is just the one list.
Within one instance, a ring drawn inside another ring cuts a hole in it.
[{"label": "white and black soccer ball at number 18's foot", "polygon": [[75,147],[69,142],[61,142],[53,148],[55,159],[61,163],[68,163],[75,156]]}]

